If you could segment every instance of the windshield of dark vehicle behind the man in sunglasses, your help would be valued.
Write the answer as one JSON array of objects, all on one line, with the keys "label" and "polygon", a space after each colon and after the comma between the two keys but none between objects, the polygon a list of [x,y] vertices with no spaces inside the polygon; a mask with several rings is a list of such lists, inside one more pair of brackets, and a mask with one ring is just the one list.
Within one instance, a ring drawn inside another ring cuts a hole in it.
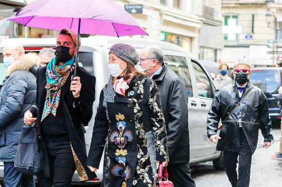
[{"label": "windshield of dark vehicle behind the man in sunglasses", "polygon": [[256,69],[251,72],[250,82],[259,87],[266,97],[278,94],[278,89],[281,86],[280,69]]}]

